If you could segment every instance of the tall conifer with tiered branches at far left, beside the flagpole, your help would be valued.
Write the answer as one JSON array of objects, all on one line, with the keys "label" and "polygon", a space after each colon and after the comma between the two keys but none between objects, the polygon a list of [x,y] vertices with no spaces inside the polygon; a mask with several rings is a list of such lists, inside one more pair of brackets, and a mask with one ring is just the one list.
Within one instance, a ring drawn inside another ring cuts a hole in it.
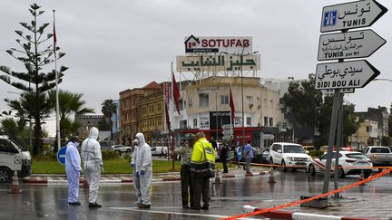
[{"label": "tall conifer with tiered branches at far left, beside the flagpole", "polygon": [[[14,86],[16,89],[24,91],[28,103],[21,102],[20,107],[28,112],[28,116],[34,120],[34,139],[33,139],[33,154],[38,155],[42,152],[42,121],[49,111],[46,92],[53,89],[55,86],[55,71],[43,72],[44,66],[54,62],[54,59],[60,59],[65,53],[59,53],[57,58],[52,59],[54,51],[52,45],[45,46],[47,40],[53,37],[52,33],[44,36],[44,30],[49,25],[48,23],[38,25],[37,19],[44,11],[40,10],[41,6],[33,4],[30,5],[30,13],[33,15],[33,20],[28,23],[20,23],[27,33],[22,31],[15,31],[20,37],[16,39],[16,43],[22,49],[11,48],[6,53],[14,57],[17,61],[23,62],[25,65],[25,72],[11,71],[7,66],[0,66],[0,71],[5,72],[5,75],[0,75],[0,79],[6,83]],[[56,51],[60,50],[56,47]],[[58,72],[58,82],[62,81],[64,71],[68,68],[61,66]],[[11,81],[11,78],[14,81]],[[21,98],[22,99],[22,98]],[[16,100],[17,101],[17,100]]]}]

